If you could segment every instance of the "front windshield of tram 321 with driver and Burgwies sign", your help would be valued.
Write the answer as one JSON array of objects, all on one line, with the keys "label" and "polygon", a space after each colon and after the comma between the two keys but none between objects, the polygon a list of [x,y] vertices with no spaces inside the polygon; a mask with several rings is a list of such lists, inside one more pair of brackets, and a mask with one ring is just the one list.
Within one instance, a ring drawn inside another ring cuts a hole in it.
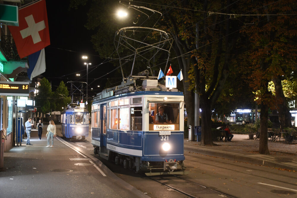
[{"label": "front windshield of tram 321 with driver and Burgwies sign", "polygon": [[179,103],[149,103],[148,122],[149,130],[179,130]]}]

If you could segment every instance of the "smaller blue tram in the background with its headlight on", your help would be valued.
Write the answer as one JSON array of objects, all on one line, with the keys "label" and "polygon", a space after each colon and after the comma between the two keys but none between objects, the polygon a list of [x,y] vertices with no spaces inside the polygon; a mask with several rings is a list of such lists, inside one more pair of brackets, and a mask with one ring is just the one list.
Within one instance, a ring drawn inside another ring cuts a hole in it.
[{"label": "smaller blue tram in the background with its headlight on", "polygon": [[62,135],[83,140],[89,136],[89,111],[82,107],[71,107],[61,115]]}]

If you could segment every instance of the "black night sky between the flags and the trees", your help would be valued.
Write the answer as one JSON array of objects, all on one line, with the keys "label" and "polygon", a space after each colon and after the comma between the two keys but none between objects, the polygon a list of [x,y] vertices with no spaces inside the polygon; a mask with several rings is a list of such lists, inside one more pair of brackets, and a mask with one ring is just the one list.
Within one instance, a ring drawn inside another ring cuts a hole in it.
[{"label": "black night sky between the flags and the trees", "polygon": [[[89,65],[89,96],[99,92],[105,84],[104,80],[98,80],[90,85],[94,78],[99,77],[91,72],[91,67],[102,63],[102,59],[95,52],[91,43],[92,31],[86,29],[88,7],[79,10],[70,9],[69,1],[47,0],[48,23],[50,30],[50,45],[45,47],[46,72],[42,75],[52,84],[52,90],[56,90],[60,81],[84,81],[86,82],[86,65],[81,58],[88,56]],[[97,70],[100,68],[97,68]],[[94,70],[96,71],[96,70]],[[73,74],[72,74],[73,73]],[[76,74],[80,74],[79,77]],[[100,88],[97,88],[100,85]],[[70,83],[67,84],[70,88]],[[91,88],[94,88],[92,91]],[[85,89],[84,89],[85,91]]]}]

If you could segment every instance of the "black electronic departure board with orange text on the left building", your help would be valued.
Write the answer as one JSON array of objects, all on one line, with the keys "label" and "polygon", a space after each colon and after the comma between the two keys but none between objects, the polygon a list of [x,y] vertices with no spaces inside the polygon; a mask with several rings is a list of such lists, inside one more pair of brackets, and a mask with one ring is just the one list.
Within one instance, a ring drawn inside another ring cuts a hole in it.
[{"label": "black electronic departure board with orange text on the left building", "polygon": [[29,82],[0,81],[0,95],[29,96]]}]

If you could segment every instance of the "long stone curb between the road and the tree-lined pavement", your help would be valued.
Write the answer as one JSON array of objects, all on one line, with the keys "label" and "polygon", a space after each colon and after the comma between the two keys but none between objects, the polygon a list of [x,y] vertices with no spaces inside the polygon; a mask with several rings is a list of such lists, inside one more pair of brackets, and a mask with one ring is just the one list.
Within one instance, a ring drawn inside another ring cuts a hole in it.
[{"label": "long stone curb between the road and the tree-lined pavement", "polygon": [[203,155],[209,155],[214,157],[220,157],[223,159],[229,159],[233,161],[239,161],[239,162],[245,162],[250,164],[256,164],[261,166],[268,166],[268,167],[274,167],[274,168],[281,168],[281,169],[289,169],[289,170],[295,170],[297,171],[297,167],[291,167],[287,166],[285,164],[280,164],[271,160],[263,160],[263,159],[256,159],[254,157],[246,156],[244,154],[239,153],[231,153],[226,151],[215,151],[211,149],[206,148],[197,148],[193,146],[186,146],[184,145],[184,151],[190,151],[193,153],[199,153]]}]

